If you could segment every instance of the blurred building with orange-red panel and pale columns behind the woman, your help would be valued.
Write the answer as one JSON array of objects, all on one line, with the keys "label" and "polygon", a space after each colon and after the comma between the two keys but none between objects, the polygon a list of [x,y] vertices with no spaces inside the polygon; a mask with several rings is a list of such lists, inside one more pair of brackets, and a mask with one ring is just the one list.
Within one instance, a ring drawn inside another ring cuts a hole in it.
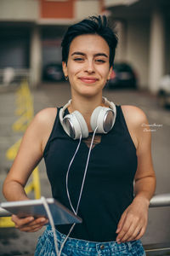
[{"label": "blurred building with orange-red panel and pale columns behind the woman", "polygon": [[29,70],[32,86],[42,70],[61,62],[60,43],[72,23],[89,15],[116,22],[116,61],[130,63],[139,89],[156,93],[169,73],[169,0],[0,0],[0,69]]}]

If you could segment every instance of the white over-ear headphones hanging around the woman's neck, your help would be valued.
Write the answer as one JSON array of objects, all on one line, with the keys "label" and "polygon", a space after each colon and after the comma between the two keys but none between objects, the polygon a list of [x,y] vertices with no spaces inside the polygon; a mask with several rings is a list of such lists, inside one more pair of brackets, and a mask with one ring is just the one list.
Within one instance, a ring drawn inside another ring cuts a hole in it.
[{"label": "white over-ear headphones hanging around the woman's neck", "polygon": [[[116,120],[116,106],[113,102],[109,102],[105,97],[103,97],[103,101],[110,108],[105,107],[97,107],[94,109],[94,112],[91,115],[90,125],[92,130],[94,131],[96,127],[97,133],[107,133],[111,131],[111,128],[115,124]],[[71,100],[59,110],[59,120],[65,132],[73,138],[74,140],[79,137],[88,137],[88,125],[85,119],[82,116],[82,113],[77,110],[65,114],[65,109],[71,104]]]}]

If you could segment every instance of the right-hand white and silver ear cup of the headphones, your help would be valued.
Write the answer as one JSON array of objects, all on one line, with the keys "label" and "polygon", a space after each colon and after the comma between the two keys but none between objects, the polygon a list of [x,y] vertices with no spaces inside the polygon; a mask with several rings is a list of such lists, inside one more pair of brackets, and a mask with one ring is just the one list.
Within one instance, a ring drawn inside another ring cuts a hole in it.
[{"label": "right-hand white and silver ear cup of the headphones", "polygon": [[111,131],[115,123],[115,118],[115,114],[111,108],[99,106],[92,113],[90,125],[93,131],[98,127],[97,133],[107,133]]}]

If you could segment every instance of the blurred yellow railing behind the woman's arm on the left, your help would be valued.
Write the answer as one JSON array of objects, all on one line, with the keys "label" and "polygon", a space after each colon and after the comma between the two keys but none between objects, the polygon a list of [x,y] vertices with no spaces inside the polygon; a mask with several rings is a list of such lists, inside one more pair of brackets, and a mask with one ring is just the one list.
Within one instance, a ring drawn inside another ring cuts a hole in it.
[{"label": "blurred yellow railing behind the woman's arm on the left", "polygon": [[[31,91],[27,81],[23,81],[20,85],[19,90],[16,92],[16,109],[15,114],[19,115],[12,128],[14,131],[26,131],[27,126],[30,124],[31,119],[34,116],[33,99],[31,96]],[[16,143],[14,143],[6,152],[6,157],[8,160],[14,160],[19,148],[20,148],[21,138]],[[40,180],[38,166],[34,169],[31,175],[31,182],[26,185],[26,194],[34,191],[35,199],[41,197]],[[10,217],[0,218],[0,228],[14,227],[14,223],[11,221]]]}]

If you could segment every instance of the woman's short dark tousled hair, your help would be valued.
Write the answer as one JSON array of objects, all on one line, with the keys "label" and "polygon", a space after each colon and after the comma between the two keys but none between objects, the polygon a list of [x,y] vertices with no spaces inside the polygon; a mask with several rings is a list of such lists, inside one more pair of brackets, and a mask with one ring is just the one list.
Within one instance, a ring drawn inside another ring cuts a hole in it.
[{"label": "woman's short dark tousled hair", "polygon": [[84,34],[97,34],[105,39],[110,48],[111,67],[115,58],[117,37],[116,33],[111,29],[110,26],[108,26],[108,21],[105,15],[91,16],[88,17],[88,19],[82,20],[72,26],[69,26],[61,43],[62,61],[65,61],[65,63],[68,61],[69,49],[72,40],[77,36]]}]

